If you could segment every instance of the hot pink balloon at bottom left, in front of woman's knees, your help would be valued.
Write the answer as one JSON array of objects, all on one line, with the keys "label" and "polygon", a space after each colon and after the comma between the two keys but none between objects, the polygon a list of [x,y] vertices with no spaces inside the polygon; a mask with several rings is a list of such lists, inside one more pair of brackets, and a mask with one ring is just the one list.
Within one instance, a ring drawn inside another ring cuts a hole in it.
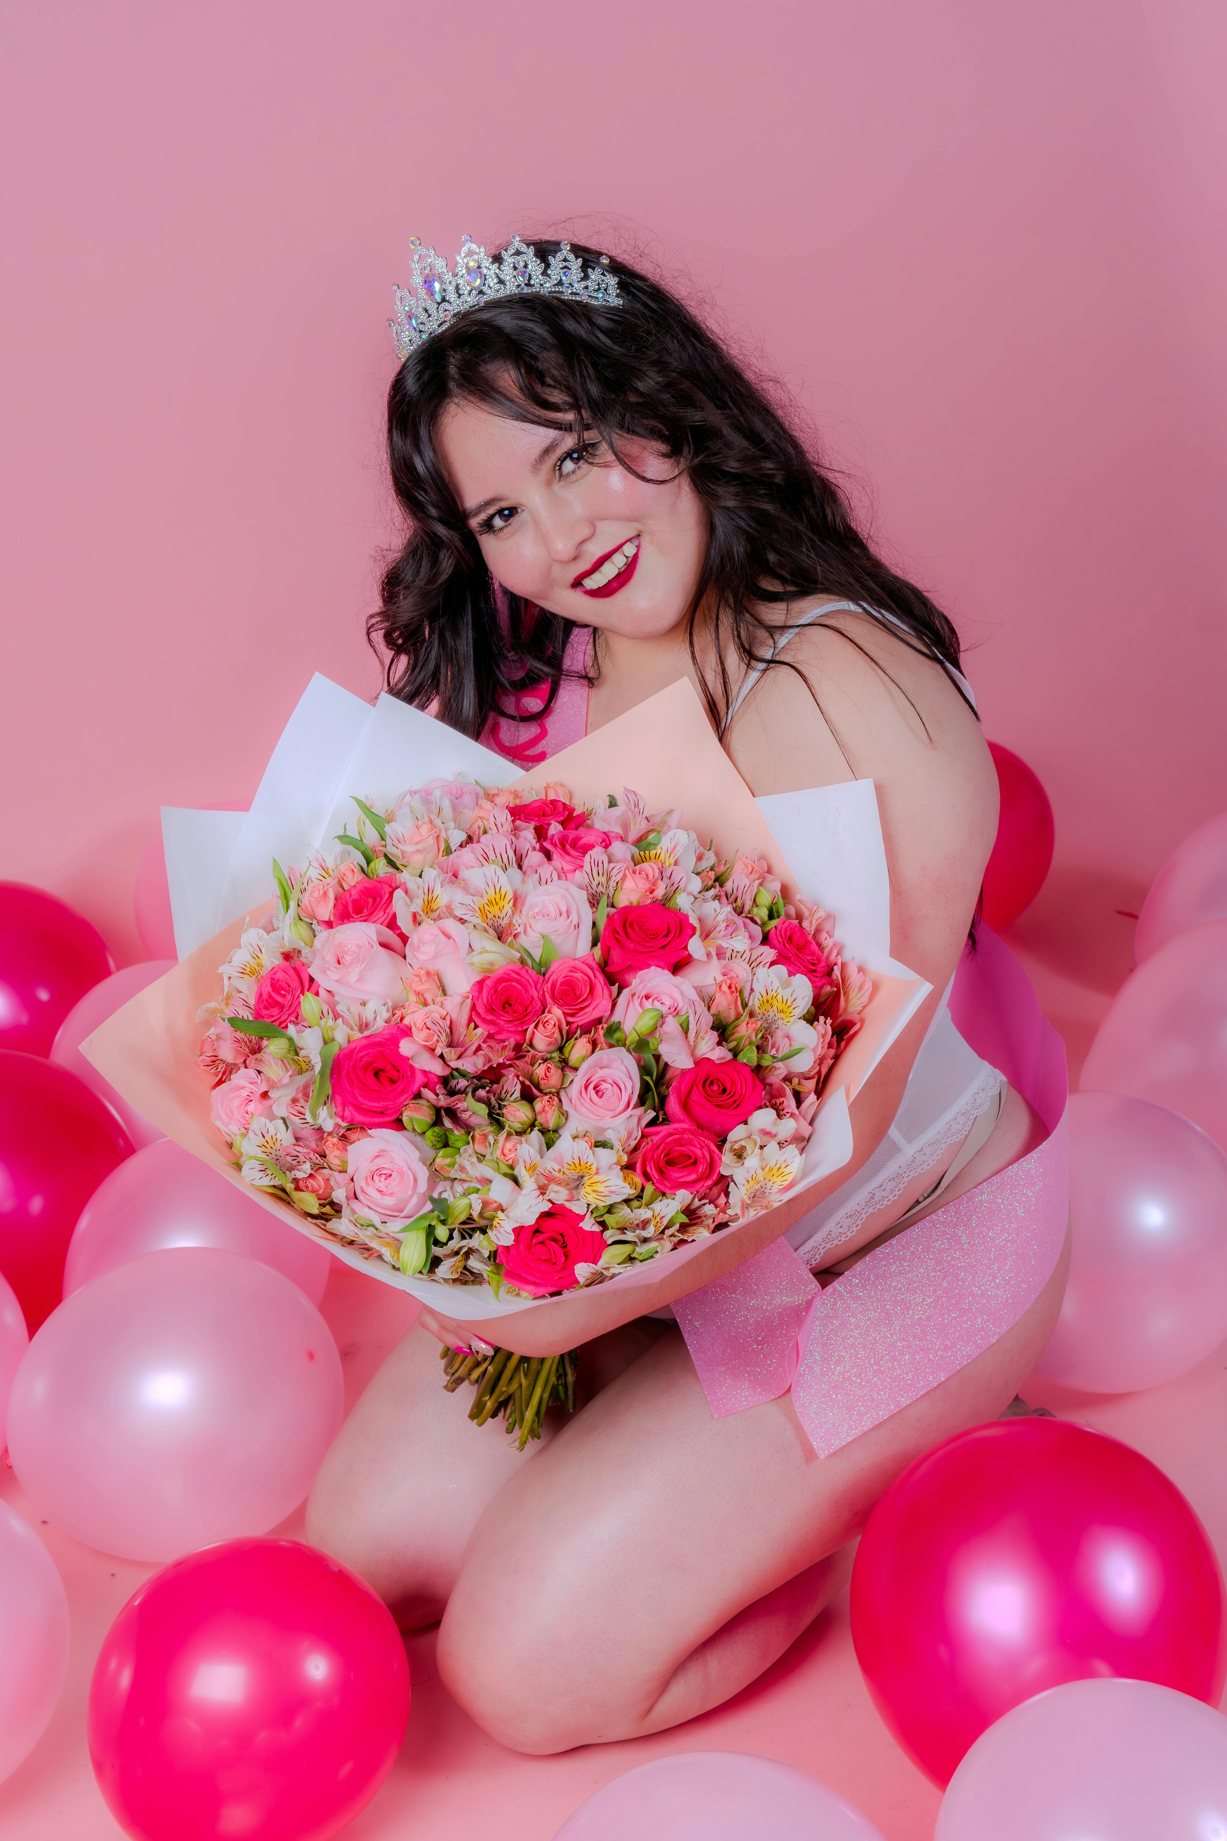
[{"label": "hot pink balloon at bottom left, in front of woman's knees", "polygon": [[298,1541],[230,1541],[120,1611],[90,1758],[142,1841],[329,1841],[383,1784],[407,1719],[405,1644],[372,1589]]}]

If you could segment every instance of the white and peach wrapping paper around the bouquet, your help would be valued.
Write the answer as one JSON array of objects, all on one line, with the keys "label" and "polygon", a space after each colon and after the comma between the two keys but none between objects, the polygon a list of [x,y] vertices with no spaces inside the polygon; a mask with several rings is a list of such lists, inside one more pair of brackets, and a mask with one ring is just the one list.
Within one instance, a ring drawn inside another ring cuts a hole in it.
[{"label": "white and peach wrapping paper around the bouquet", "polygon": [[[248,919],[259,924],[272,913],[267,893],[274,854],[283,863],[302,863],[313,845],[344,830],[353,812],[351,793],[379,805],[407,786],[460,773],[508,782],[506,760],[421,711],[388,696],[370,709],[315,677],[237,832],[234,814],[213,814],[224,832],[219,825],[212,847],[193,854],[208,834],[210,814],[164,812],[171,886],[178,891],[177,937],[191,950],[173,972],[110,1016],[83,1051],[167,1138],[239,1184],[296,1232],[324,1241],[346,1265],[412,1292],[487,1340],[504,1346],[513,1340],[528,1355],[554,1353],[708,1283],[793,1226],[806,1213],[806,1191],[852,1156],[848,1101],[931,987],[889,952],[889,882],[872,782],[754,799],[712,735],[694,689],[671,685],[513,784],[565,781],[576,797],[598,801],[633,786],[651,810],[681,808],[684,823],[710,836],[719,851],[740,849],[765,858],[787,893],[804,893],[833,913],[839,939],[850,950],[855,944],[855,957],[870,974],[872,998],[859,1035],[828,1079],[802,1176],[774,1210],[660,1254],[585,1292],[495,1300],[484,1287],[407,1278],[375,1254],[340,1246],[289,1202],[241,1182],[210,1121],[208,1086],[193,1066],[202,1033],[197,1011],[219,996],[217,968],[237,944],[243,924]],[[773,821],[789,838],[791,867]],[[213,922],[219,930],[202,935]]]}]

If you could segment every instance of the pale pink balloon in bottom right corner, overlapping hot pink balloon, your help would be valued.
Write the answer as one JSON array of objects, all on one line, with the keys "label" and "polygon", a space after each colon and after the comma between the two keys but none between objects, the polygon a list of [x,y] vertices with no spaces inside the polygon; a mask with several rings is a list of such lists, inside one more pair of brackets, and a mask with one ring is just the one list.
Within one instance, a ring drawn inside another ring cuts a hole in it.
[{"label": "pale pink balloon in bottom right corner, overlapping hot pink balloon", "polygon": [[1049,1688],[982,1732],[949,1780],[933,1841],[1221,1835],[1227,1719],[1175,1688],[1098,1679]]}]

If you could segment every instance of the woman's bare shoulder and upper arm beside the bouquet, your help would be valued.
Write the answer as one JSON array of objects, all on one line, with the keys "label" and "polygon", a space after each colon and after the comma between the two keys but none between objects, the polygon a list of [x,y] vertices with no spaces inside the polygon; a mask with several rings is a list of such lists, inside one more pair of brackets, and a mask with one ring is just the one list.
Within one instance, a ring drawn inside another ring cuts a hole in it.
[{"label": "woman's bare shoulder and upper arm beside the bouquet", "polygon": [[774,666],[754,685],[730,729],[732,758],[756,793],[874,781],[892,950],[944,983],[997,832],[980,725],[935,659],[868,615],[811,622],[782,657],[795,670]]}]

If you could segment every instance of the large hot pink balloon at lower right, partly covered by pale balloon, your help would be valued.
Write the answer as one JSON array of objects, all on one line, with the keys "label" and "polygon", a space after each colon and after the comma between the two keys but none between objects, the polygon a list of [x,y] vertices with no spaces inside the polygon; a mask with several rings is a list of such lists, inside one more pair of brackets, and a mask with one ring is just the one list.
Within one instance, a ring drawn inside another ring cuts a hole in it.
[{"label": "large hot pink balloon at lower right, partly covered by pale balloon", "polygon": [[852,1569],[877,1712],[936,1784],[995,1719],[1089,1675],[1223,1690],[1227,1604],[1192,1508],[1141,1453],[999,1419],[896,1476]]}]

